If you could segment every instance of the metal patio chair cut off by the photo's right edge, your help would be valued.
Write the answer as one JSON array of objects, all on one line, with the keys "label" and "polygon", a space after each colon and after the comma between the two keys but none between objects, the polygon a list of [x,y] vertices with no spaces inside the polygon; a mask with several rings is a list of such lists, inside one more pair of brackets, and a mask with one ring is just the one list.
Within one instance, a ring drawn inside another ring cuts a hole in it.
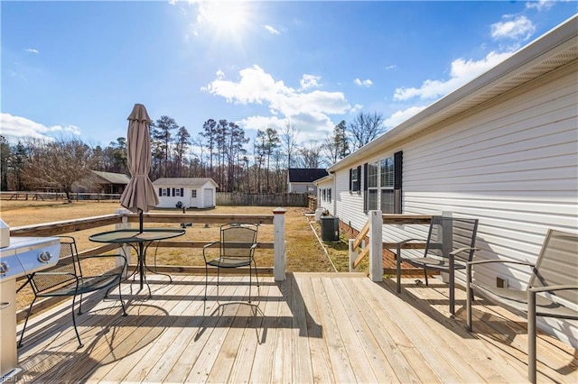
[{"label": "metal patio chair cut off by the photo's right edge", "polygon": [[[472,268],[489,263],[527,266],[527,289],[495,288],[472,279]],[[467,263],[467,325],[471,331],[473,294],[527,316],[528,379],[536,382],[536,316],[578,320],[578,234],[548,230],[536,263],[484,260]]]}]

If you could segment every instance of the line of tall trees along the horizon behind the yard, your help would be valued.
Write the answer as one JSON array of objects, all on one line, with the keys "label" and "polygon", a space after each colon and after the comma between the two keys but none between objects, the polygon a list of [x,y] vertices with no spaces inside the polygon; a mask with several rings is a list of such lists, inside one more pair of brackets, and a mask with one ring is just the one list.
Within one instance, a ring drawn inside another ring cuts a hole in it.
[{"label": "line of tall trees along the horizon behind the yard", "polygon": [[[324,168],[385,132],[383,116],[359,113],[341,121],[321,141],[299,142],[294,123],[257,130],[255,140],[237,123],[209,119],[192,137],[185,126],[163,115],[150,124],[150,178],[213,178],[224,192],[278,193],[286,190],[286,169]],[[107,147],[78,138],[11,144],[0,135],[0,189],[51,188],[70,194],[89,169],[129,174],[126,138]]]}]

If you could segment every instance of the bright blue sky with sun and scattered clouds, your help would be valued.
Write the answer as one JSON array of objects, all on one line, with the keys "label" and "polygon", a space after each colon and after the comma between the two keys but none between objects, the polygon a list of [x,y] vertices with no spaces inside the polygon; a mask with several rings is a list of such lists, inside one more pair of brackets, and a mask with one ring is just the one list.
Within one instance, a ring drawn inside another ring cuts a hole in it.
[{"label": "bright blue sky with sun and scattered clouds", "polygon": [[135,103],[197,136],[396,126],[576,13],[573,1],[2,1],[1,133],[126,137]]}]

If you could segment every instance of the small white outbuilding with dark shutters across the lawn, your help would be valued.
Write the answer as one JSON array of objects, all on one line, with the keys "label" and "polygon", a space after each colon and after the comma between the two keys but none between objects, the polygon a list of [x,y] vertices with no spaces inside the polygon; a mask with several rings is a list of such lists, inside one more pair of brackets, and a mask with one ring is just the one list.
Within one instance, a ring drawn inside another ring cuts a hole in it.
[{"label": "small white outbuilding with dark shutters across the lawn", "polygon": [[217,183],[212,178],[158,178],[153,182],[159,208],[210,208],[217,205]]}]

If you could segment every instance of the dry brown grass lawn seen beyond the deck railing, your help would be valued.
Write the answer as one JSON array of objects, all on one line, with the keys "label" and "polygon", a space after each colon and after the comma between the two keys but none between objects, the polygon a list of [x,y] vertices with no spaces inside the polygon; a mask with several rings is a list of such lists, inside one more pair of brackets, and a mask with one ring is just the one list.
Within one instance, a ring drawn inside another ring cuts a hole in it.
[{"label": "dry brown grass lawn seen beyond the deck railing", "polygon": [[[87,202],[79,201],[71,204],[61,201],[23,201],[23,200],[2,200],[0,201],[0,217],[10,227],[45,224],[70,219],[91,217],[98,215],[114,214],[121,206],[117,202]],[[273,206],[218,206],[210,210],[188,212],[198,214],[206,212],[207,214],[245,214],[245,215],[263,215],[272,214]],[[154,212],[175,212],[180,210],[154,210]],[[285,215],[285,240],[287,244],[287,271],[301,272],[331,272],[333,266],[327,255],[323,251],[322,244],[312,231],[309,224],[309,218],[304,214],[305,208],[289,207]],[[173,227],[180,228],[180,224],[155,224],[144,223],[145,226],[154,227]],[[103,226],[75,233],[68,233],[76,239],[79,251],[88,250],[96,247],[98,244],[90,242],[89,235],[104,231],[114,230],[114,225]],[[274,228],[273,225],[261,225],[259,228],[257,240],[262,242],[273,242]],[[219,240],[219,224],[193,224],[186,228],[186,234],[175,240],[191,240],[214,242]],[[329,244],[333,264],[338,266],[347,265],[347,245]],[[200,249],[181,249],[181,248],[159,248],[150,249],[147,255],[147,263],[154,265],[154,259],[159,265],[203,265],[202,253]],[[273,251],[258,250],[256,252],[257,265],[260,267],[273,266]],[[99,266],[106,268],[107,266]],[[86,273],[86,272],[85,272]],[[25,306],[28,301],[29,293],[25,290],[19,294],[19,307]]]}]

